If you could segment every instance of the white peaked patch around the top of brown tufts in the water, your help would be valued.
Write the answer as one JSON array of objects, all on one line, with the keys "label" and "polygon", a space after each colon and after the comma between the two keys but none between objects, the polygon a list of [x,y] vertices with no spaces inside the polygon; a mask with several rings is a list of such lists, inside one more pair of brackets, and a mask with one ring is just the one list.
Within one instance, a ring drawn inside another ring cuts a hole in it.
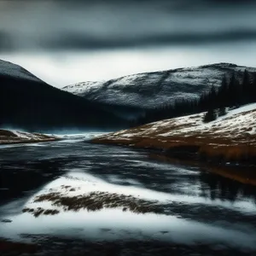
[{"label": "white peaked patch around the top of brown tufts in the water", "polygon": [[[74,170],[73,170],[74,171]],[[172,202],[183,202],[189,204],[203,204],[203,205],[215,205],[219,207],[224,207],[227,209],[234,209],[234,203],[230,201],[208,201],[203,196],[193,196],[193,195],[174,195],[166,192],[160,192],[153,189],[145,189],[143,187],[138,187],[136,185],[119,185],[108,183],[101,178],[94,177],[87,173],[78,172],[69,172],[67,175],[59,177],[54,181],[50,182],[38,193],[32,195],[32,197],[26,201],[24,208],[28,209],[37,209],[38,207],[42,209],[56,210],[59,212],[63,211],[63,206],[52,204],[53,201],[39,200],[38,198],[47,197],[47,195],[57,194],[58,197],[70,197],[71,199],[76,199],[76,197],[84,197],[92,195],[91,200],[97,201],[100,199],[101,195],[110,195],[109,199],[114,196],[123,196],[124,198],[130,198],[132,201],[143,201],[143,204],[153,204],[155,207],[164,206]],[[121,199],[119,199],[121,201]],[[104,203],[105,207],[111,203],[106,198]],[[85,208],[85,207],[84,207]],[[119,208],[119,206],[115,207]],[[247,212],[252,213],[254,210],[252,202],[248,201],[237,201],[236,202],[236,211],[237,212]],[[70,209],[69,211],[72,211]],[[83,210],[83,207],[79,208]],[[98,209],[102,210],[102,209]],[[97,211],[97,210],[96,210]],[[75,209],[74,209],[74,212]],[[87,211],[85,211],[87,212]],[[129,212],[129,211],[128,211]],[[164,214],[164,212],[161,212]],[[254,213],[253,213],[254,214]]]}]

